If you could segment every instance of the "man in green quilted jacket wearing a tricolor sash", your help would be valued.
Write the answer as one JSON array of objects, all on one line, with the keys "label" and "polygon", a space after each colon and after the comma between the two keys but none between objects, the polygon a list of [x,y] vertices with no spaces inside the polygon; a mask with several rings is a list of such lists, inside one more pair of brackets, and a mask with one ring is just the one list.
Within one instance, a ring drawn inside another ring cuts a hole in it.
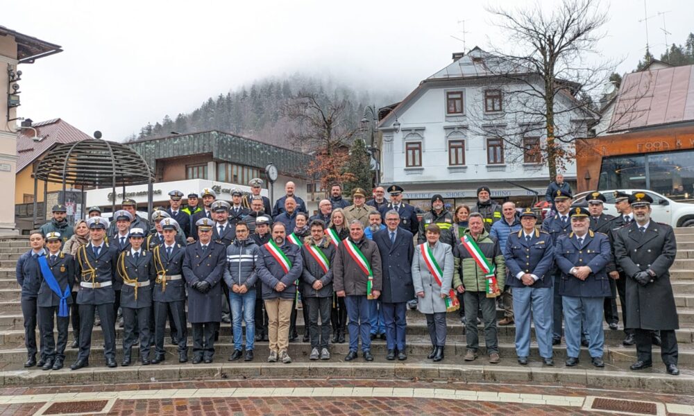
[{"label": "man in green quilted jacket wearing a tricolor sash", "polygon": [[[459,243],[453,249],[453,286],[459,293],[464,293],[467,338],[464,360],[473,361],[477,358],[477,349],[480,346],[477,336],[477,310],[482,309],[486,352],[489,354],[489,362],[496,364],[500,361],[496,333],[496,297],[504,290],[504,254],[498,241],[492,239],[484,229],[482,214],[470,214],[464,237],[466,243]],[[493,284],[495,278],[496,286]]]}]

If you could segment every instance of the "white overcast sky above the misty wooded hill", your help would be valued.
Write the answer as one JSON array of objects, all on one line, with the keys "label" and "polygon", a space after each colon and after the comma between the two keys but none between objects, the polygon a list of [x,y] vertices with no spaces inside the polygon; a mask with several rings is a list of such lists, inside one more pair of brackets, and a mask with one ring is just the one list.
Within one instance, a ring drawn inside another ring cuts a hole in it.
[{"label": "white overcast sky above the misty wooded hill", "polygon": [[[296,71],[355,87],[401,92],[467,49],[502,44],[484,10],[496,1],[13,1],[0,25],[53,42],[58,55],[22,64],[19,116],[60,117],[121,140],[165,114],[194,110],[209,96]],[[539,1],[551,8],[555,1]],[[631,71],[645,51],[643,0],[613,0],[598,48]],[[646,0],[651,50],[684,43],[694,1]]]}]

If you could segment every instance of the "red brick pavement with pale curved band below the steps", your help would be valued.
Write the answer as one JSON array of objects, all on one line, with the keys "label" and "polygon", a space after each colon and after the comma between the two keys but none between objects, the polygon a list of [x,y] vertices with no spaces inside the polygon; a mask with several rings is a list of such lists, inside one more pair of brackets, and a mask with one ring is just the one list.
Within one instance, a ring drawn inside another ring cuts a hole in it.
[{"label": "red brick pavement with pale curved band below the steps", "polygon": [[[253,379],[0,389],[0,415],[606,415],[596,398],[694,415],[691,395],[557,385]],[[641,403],[638,403],[641,402]],[[597,403],[597,401],[595,401]],[[611,402],[609,402],[611,403]],[[629,407],[632,406],[632,407]],[[642,409],[643,411],[646,411]],[[647,413],[638,413],[647,414]]]}]

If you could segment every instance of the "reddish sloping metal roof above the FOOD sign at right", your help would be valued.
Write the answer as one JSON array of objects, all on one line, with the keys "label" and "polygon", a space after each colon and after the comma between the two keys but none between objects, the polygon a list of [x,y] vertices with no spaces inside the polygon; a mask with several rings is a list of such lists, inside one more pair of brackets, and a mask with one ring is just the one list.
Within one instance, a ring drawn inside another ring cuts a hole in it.
[{"label": "reddish sloping metal roof above the FOOD sign at right", "polygon": [[694,121],[694,65],[628,73],[609,132]]}]

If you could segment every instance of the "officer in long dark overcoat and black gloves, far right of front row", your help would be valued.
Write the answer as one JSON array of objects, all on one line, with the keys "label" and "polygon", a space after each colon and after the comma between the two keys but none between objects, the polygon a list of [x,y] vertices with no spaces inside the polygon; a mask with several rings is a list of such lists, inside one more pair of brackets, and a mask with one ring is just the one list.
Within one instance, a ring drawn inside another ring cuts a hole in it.
[{"label": "officer in long dark overcoat and black gloves, far right of front row", "polygon": [[675,232],[670,225],[651,220],[652,198],[634,193],[634,221],[615,232],[614,254],[626,279],[627,321],[636,338],[636,363],[632,370],[652,366],[652,331],[660,330],[660,354],[668,374],[677,376],[677,306],[670,284],[670,267],[677,255]]}]

